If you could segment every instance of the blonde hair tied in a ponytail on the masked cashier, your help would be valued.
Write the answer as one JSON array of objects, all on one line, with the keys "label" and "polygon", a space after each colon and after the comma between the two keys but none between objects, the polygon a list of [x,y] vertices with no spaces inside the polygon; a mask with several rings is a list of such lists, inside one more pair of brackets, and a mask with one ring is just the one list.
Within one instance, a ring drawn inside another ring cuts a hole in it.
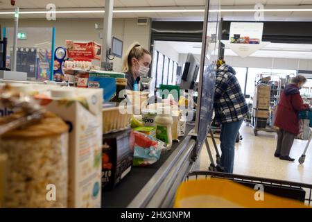
[{"label": "blonde hair tied in a ponytail on the masked cashier", "polygon": [[150,52],[147,49],[145,49],[143,46],[141,46],[141,44],[139,44],[139,42],[132,43],[129,46],[129,48],[127,49],[125,56],[123,56],[122,71],[124,73],[130,71],[132,58],[136,58],[137,60],[139,60],[145,54],[150,55]]}]

